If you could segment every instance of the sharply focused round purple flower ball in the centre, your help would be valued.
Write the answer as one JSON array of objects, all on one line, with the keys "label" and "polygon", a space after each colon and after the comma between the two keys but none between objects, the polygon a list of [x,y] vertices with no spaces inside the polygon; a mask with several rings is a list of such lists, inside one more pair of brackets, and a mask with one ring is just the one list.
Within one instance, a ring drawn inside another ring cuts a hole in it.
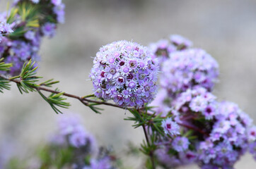
[{"label": "sharply focused round purple flower ball in the centre", "polygon": [[141,107],[156,95],[158,61],[135,42],[112,42],[100,48],[91,69],[94,94],[120,106]]}]

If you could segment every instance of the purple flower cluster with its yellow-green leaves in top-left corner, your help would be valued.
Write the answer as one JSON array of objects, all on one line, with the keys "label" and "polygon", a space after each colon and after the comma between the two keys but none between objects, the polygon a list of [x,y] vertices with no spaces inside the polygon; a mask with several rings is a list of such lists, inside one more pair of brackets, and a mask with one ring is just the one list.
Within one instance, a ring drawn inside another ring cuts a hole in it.
[{"label": "purple flower cluster with its yellow-green leaves in top-left corner", "polygon": [[53,37],[57,23],[64,23],[64,7],[62,0],[18,0],[0,13],[0,58],[13,63],[7,74],[18,75],[30,59],[40,61],[42,37]]}]

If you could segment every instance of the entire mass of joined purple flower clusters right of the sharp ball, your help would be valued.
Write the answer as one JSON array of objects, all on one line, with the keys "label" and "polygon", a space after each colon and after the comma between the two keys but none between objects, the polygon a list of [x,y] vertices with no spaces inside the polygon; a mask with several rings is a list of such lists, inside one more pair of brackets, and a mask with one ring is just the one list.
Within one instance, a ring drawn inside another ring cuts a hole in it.
[{"label": "entire mass of joined purple flower clusters right of the sharp ball", "polygon": [[256,159],[252,119],[236,104],[216,101],[211,91],[219,65],[206,51],[190,46],[192,42],[178,35],[151,45],[161,58],[162,73],[161,89],[149,106],[165,118],[166,134],[156,143],[158,161],[166,168],[187,163],[233,168],[248,149]]}]

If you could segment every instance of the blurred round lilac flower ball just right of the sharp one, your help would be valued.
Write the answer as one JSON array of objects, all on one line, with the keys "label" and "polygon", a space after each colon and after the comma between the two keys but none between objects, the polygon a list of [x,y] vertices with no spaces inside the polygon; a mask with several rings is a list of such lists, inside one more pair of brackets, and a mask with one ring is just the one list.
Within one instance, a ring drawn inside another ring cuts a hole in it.
[{"label": "blurred round lilac flower ball just right of the sharp one", "polygon": [[187,49],[170,54],[162,71],[161,87],[175,95],[195,85],[211,91],[219,76],[219,65],[206,51]]}]

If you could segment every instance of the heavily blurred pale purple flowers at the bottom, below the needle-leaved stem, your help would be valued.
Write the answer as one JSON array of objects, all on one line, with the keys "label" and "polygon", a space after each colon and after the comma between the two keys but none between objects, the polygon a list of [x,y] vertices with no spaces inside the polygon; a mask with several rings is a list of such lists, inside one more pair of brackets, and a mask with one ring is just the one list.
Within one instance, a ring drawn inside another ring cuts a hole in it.
[{"label": "heavily blurred pale purple flowers at the bottom, below the needle-leaved stem", "polygon": [[[76,114],[62,115],[58,119],[57,133],[52,137],[51,142],[64,148],[74,148],[74,169],[114,169],[112,156],[103,152],[95,141],[93,135],[89,134],[79,121]],[[84,163],[84,159],[88,162]]]}]

